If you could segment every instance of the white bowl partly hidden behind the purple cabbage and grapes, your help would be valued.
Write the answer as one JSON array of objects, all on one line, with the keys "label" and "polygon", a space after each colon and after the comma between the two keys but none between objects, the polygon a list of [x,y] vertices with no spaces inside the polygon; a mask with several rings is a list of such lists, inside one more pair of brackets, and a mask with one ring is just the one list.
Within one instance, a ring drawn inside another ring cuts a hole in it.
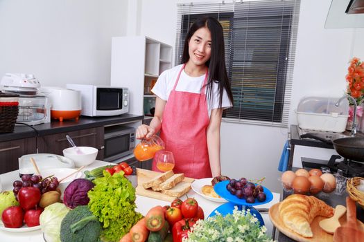
[{"label": "white bowl partly hidden behind the purple cabbage and grapes", "polygon": [[[69,174],[73,173],[77,171],[77,169],[72,169],[72,168],[53,168],[53,169],[44,169],[43,171],[40,171],[40,173],[42,174],[43,178],[46,178],[47,176],[55,176],[56,178],[58,178],[58,180],[68,176]],[[76,172],[76,174],[73,174],[72,176],[69,176],[68,178],[62,180],[60,182],[60,185],[58,185],[58,188],[61,190],[62,192],[62,196],[63,197],[63,192],[64,189],[66,189],[66,187],[69,185],[69,183],[71,183],[73,180],[78,179],[78,178],[83,178],[83,172],[82,171],[78,171]]]}]

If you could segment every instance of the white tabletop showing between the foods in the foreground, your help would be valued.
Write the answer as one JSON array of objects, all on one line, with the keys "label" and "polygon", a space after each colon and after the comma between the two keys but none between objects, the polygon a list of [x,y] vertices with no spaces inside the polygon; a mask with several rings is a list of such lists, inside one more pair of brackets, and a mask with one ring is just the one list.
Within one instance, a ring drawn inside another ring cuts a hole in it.
[{"label": "white tabletop showing between the foods in the foreground", "polygon": [[[85,169],[93,169],[95,167],[101,167],[101,166],[107,165],[107,164],[111,164],[111,163],[96,160],[94,163],[92,163],[88,167],[85,167]],[[83,170],[85,170],[85,169],[83,169]],[[12,189],[12,182],[14,180],[19,179],[19,171],[11,171],[6,174],[1,174],[0,178],[2,180],[3,190]],[[193,192],[192,189],[187,193],[187,196],[196,198],[196,200],[198,201],[198,204],[200,205],[200,207],[202,207],[202,209],[205,212],[205,218],[207,216],[209,216],[209,214],[211,212],[213,212],[218,206],[223,204],[223,203],[215,203],[215,202],[206,200],[202,196],[196,194],[196,192]],[[186,199],[187,196],[186,195],[182,196],[182,200]],[[270,201],[270,203],[267,203],[265,205],[259,205],[256,207],[257,208],[269,208],[272,205],[274,205],[275,203],[279,202],[279,197],[280,197],[279,194],[273,193],[273,200]],[[146,215],[146,213],[148,212],[148,210],[150,210],[150,208],[155,207],[157,205],[162,205],[162,206],[170,205],[170,203],[166,202],[166,201],[160,201],[157,199],[147,198],[145,196],[139,196],[139,195],[137,195],[137,200],[135,201],[135,203],[137,204],[137,211],[144,215]],[[273,227],[272,227],[272,223],[270,222],[268,213],[261,214],[261,215],[263,217],[264,223],[266,223],[266,227],[268,229],[267,233],[271,235],[273,232]],[[3,230],[0,230],[0,239],[2,241],[19,241],[19,242],[20,241],[21,242],[44,241],[41,230],[35,230],[32,232],[6,232]]]}]

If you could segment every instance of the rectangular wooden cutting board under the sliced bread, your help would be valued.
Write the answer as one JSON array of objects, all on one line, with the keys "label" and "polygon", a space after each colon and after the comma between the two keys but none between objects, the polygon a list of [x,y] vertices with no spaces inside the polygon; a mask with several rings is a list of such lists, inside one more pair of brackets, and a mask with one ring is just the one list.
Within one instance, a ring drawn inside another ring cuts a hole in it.
[{"label": "rectangular wooden cutting board under the sliced bread", "polygon": [[[155,178],[159,174],[161,174],[161,173],[157,172],[157,171],[150,171],[147,169],[137,168],[138,185],[137,185],[137,188],[135,189],[135,193],[140,196],[147,196],[148,198],[155,198],[155,199],[168,201],[168,202],[175,200],[176,197],[174,197],[174,196],[168,196],[166,194],[162,194],[162,192],[155,192],[151,188],[144,189],[143,183],[146,183],[148,180]],[[193,180],[195,180],[195,179],[185,177],[183,181],[188,182],[188,183],[193,183]]]}]

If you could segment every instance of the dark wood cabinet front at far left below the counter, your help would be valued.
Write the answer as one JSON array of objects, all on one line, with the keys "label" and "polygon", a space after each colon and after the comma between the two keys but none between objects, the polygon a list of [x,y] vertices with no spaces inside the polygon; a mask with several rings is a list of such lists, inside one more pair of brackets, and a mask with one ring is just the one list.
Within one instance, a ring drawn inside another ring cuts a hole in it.
[{"label": "dark wood cabinet front at far left below the counter", "polygon": [[0,142],[0,174],[19,169],[18,159],[30,153],[37,153],[36,138]]}]

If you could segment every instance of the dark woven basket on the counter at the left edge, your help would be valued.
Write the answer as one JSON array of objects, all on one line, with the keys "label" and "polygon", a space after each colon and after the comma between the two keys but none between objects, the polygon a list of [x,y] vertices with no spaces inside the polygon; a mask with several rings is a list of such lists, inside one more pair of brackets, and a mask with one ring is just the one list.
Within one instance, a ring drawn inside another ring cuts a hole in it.
[{"label": "dark woven basket on the counter at the left edge", "polygon": [[0,132],[14,131],[19,111],[19,95],[0,93]]}]

